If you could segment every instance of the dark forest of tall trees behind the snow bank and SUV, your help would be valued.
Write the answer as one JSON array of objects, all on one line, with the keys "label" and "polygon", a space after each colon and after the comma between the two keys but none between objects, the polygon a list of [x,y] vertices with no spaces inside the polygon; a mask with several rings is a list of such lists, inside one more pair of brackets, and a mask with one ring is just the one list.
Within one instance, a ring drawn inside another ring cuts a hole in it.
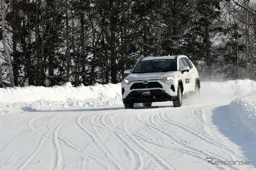
[{"label": "dark forest of tall trees behind the snow bank and SUV", "polygon": [[255,80],[255,0],[1,0],[0,87],[118,83],[184,54],[201,81]]}]

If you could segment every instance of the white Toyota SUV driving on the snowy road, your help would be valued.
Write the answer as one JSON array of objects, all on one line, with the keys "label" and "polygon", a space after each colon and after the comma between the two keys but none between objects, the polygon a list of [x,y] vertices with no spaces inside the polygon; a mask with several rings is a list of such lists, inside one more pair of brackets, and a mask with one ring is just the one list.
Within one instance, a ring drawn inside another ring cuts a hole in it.
[{"label": "white Toyota SUV driving on the snowy road", "polygon": [[121,84],[126,109],[133,108],[134,103],[150,107],[152,102],[162,101],[181,107],[184,93],[199,94],[197,69],[185,55],[145,57],[124,74],[128,75]]}]

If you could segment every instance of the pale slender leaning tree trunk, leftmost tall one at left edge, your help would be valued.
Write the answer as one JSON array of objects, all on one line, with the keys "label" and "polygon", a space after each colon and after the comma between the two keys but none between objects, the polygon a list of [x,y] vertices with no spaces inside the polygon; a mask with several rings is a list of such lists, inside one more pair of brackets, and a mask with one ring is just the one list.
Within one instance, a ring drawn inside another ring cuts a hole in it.
[{"label": "pale slender leaning tree trunk, leftmost tall one at left edge", "polygon": [[9,68],[9,75],[10,75],[10,84],[11,87],[15,86],[14,83],[14,74],[13,74],[13,69],[12,69],[12,58],[11,55],[9,53],[8,47],[7,47],[7,43],[6,43],[6,32],[5,32],[5,7],[4,7],[4,0],[1,0],[1,10],[2,10],[2,39],[3,39],[3,45],[4,45],[4,51],[6,53],[7,56],[7,62],[8,62],[8,68]]}]

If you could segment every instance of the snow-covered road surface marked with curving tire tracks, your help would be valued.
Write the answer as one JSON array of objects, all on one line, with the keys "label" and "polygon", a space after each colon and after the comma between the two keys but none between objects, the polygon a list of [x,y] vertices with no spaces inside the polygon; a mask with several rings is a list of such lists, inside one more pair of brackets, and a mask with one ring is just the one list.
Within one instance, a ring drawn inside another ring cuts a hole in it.
[{"label": "snow-covered road surface marked with curving tire tracks", "polygon": [[[227,107],[117,106],[5,115],[0,169],[255,168],[238,165],[255,164],[256,145],[227,123]],[[207,162],[211,159],[226,165]]]}]

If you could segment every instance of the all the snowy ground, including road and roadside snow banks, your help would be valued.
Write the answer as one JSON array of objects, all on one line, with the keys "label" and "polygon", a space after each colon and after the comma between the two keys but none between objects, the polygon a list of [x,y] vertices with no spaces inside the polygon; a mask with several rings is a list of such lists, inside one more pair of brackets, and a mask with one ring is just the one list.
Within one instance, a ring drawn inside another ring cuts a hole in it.
[{"label": "all the snowy ground, including road and roadside snow banks", "polygon": [[0,89],[0,169],[256,169],[256,81],[201,87],[134,109],[120,84]]}]

